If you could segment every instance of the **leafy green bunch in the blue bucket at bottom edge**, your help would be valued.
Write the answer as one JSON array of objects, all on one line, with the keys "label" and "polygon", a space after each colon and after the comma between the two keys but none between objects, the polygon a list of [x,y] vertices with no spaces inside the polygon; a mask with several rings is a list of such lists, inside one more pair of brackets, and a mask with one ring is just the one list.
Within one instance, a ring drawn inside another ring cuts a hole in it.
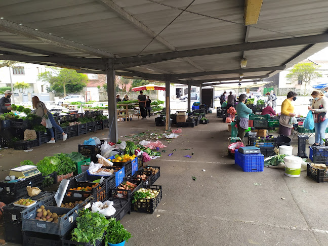
[{"label": "leafy green bunch in the blue bucket at bottom edge", "polygon": [[120,243],[122,241],[128,241],[132,237],[131,233],[124,228],[124,226],[116,221],[114,218],[110,218],[109,225],[107,229],[107,234],[105,235],[105,245],[108,243]]}]

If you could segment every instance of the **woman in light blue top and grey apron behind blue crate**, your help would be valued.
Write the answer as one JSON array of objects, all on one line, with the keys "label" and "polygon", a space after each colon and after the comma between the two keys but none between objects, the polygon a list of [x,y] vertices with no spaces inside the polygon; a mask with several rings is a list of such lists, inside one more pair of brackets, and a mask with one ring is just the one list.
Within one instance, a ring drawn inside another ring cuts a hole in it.
[{"label": "woman in light blue top and grey apron behind blue crate", "polygon": [[250,114],[253,113],[252,109],[248,108],[245,103],[247,102],[247,95],[240,94],[238,98],[239,102],[236,106],[237,111],[237,126],[238,126],[238,135],[237,137],[241,138],[241,142],[243,142],[243,138],[245,136],[245,132],[248,129]]}]

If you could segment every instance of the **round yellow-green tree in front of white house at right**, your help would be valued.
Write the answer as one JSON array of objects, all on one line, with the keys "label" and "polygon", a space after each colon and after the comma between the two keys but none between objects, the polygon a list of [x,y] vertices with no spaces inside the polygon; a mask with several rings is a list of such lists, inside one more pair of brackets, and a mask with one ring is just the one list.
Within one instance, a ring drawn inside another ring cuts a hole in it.
[{"label": "round yellow-green tree in front of white house at right", "polygon": [[311,81],[315,78],[322,77],[322,74],[317,72],[316,69],[320,66],[312,62],[304,62],[295,64],[291,72],[286,75],[286,78],[291,81],[302,81],[304,83],[304,96],[306,94],[306,86],[310,85]]}]

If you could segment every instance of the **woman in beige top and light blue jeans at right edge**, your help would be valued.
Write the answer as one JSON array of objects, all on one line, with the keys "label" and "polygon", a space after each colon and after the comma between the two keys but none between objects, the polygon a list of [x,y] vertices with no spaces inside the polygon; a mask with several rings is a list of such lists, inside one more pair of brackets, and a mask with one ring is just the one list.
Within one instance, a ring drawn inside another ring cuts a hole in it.
[{"label": "woman in beige top and light blue jeans at right edge", "polygon": [[314,119],[315,142],[313,145],[318,146],[323,145],[322,139],[325,139],[328,122],[328,118],[325,117],[328,110],[328,98],[319,91],[313,91],[311,96],[313,97],[312,106],[309,106],[308,109],[313,112]]}]

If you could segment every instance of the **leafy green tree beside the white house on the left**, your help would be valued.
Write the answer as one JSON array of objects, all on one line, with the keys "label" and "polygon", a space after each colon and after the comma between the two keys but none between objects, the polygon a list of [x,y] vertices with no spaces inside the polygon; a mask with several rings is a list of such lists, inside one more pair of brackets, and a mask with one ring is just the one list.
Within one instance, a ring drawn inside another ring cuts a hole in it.
[{"label": "leafy green tree beside the white house on the left", "polygon": [[50,84],[49,91],[80,92],[87,86],[88,76],[83,73],[77,73],[75,70],[66,68],[52,68],[53,72],[43,72],[38,75],[38,80]]}]

